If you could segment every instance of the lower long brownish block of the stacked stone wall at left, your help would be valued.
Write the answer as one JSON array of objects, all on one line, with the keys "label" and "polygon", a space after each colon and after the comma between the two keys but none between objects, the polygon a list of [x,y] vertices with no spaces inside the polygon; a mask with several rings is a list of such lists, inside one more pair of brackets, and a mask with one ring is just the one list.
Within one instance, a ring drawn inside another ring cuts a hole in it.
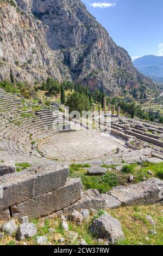
[{"label": "lower long brownish block of the stacked stone wall at left", "polygon": [[50,215],[74,204],[82,198],[80,178],[68,179],[65,186],[11,206],[12,215],[28,216],[29,219]]}]

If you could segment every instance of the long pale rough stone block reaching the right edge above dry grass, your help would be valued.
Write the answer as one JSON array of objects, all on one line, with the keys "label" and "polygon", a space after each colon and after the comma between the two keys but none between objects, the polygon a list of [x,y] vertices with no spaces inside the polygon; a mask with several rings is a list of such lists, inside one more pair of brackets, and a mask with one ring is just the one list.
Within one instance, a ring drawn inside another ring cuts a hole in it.
[{"label": "long pale rough stone block reaching the right edge above dry grass", "polygon": [[138,184],[117,186],[108,193],[115,197],[122,205],[154,204],[161,201],[160,192],[163,189],[163,181],[158,178],[150,178]]}]

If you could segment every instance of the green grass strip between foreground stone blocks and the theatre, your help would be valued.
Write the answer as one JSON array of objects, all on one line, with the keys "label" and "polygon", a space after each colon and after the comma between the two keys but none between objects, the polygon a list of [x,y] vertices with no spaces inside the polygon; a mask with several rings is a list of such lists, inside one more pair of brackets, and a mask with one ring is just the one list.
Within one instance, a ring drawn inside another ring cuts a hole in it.
[{"label": "green grass strip between foreground stone blocks and the theatre", "polygon": [[[89,176],[87,175],[87,166],[82,164],[70,165],[71,177],[80,177],[84,185],[84,189],[98,189],[101,193],[106,193],[112,187],[128,183],[128,178],[132,174],[134,176],[134,183],[143,181],[144,178],[159,177],[163,179],[163,163],[151,164],[143,163],[142,165],[131,164],[129,168],[123,169],[123,171],[116,171],[115,166],[106,166],[109,168],[103,176]],[[153,176],[148,174],[148,170],[153,172]]]}]

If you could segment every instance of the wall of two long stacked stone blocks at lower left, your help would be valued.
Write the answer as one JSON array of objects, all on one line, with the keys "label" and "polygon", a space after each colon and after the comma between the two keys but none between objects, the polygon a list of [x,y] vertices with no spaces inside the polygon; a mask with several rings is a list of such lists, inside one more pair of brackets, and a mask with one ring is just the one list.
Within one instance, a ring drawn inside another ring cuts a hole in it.
[{"label": "wall of two long stacked stone blocks at lower left", "polygon": [[82,198],[80,178],[68,166],[41,165],[0,177],[0,219],[47,216]]}]

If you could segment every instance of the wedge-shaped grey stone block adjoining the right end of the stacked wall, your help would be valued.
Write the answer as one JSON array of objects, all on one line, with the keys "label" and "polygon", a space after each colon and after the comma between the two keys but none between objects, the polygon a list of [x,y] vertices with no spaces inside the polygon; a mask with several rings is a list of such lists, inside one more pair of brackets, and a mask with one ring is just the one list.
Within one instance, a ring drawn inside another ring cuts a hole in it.
[{"label": "wedge-shaped grey stone block adjoining the right end of the stacked wall", "polygon": [[82,199],[77,201],[75,204],[66,207],[63,212],[68,213],[73,210],[80,211],[82,209],[104,209],[106,206],[105,199],[102,198],[101,194],[97,189],[88,189],[84,191]]}]

